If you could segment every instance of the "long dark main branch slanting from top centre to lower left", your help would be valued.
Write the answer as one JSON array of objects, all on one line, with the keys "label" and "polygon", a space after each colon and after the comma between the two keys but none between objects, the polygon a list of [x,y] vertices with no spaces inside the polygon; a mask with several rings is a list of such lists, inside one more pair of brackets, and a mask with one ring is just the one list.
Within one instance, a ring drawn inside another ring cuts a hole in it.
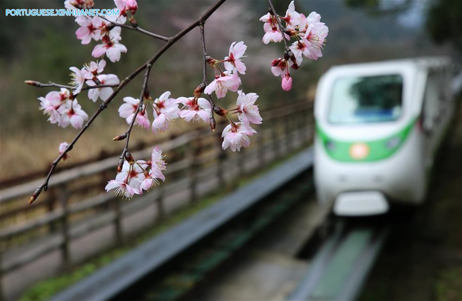
[{"label": "long dark main branch slanting from top centre to lower left", "polygon": [[110,104],[110,102],[115,98],[115,96],[118,95],[119,91],[123,89],[131,80],[133,80],[141,71],[146,69],[148,65],[152,65],[155,63],[161,55],[167,51],[168,48],[170,48],[173,44],[175,44],[178,40],[180,40],[184,35],[186,35],[189,31],[194,29],[195,27],[199,26],[200,24],[203,24],[205,20],[207,20],[208,17],[210,17],[211,14],[213,14],[226,0],[218,0],[213,6],[211,6],[204,14],[202,14],[196,21],[192,22],[188,27],[177,33],[176,35],[170,37],[169,41],[156,53],[153,55],[152,58],[150,58],[146,63],[138,67],[136,70],[134,70],[132,73],[129,74],[120,84],[117,88],[114,89],[112,94],[106,99],[94,112],[94,114],[91,116],[91,118],[85,123],[85,125],[82,127],[82,129],[79,131],[79,133],[74,137],[74,139],[71,141],[71,143],[68,144],[64,152],[57,157],[51,167],[50,171],[48,172],[47,177],[45,178],[45,181],[42,185],[38,186],[37,189],[32,193],[32,195],[29,198],[29,204],[32,204],[34,200],[37,199],[38,195],[42,192],[42,190],[47,190],[48,189],[48,182],[50,180],[51,174],[53,173],[54,169],[56,168],[56,165],[61,161],[61,159],[67,155],[69,150],[72,149],[74,144],[80,139],[80,137],[85,133],[87,128],[91,125],[91,123],[101,114],[101,112],[107,108],[107,106]]}]

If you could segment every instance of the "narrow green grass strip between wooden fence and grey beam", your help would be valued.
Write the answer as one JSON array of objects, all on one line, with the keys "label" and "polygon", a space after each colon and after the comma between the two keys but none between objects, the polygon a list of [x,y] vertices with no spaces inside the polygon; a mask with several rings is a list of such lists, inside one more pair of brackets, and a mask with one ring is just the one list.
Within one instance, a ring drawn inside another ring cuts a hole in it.
[{"label": "narrow green grass strip between wooden fence and grey beam", "polygon": [[[303,147],[305,146],[306,145],[304,145]],[[42,300],[49,299],[50,297],[52,297],[59,291],[89,276],[93,272],[104,267],[105,265],[109,264],[110,262],[117,259],[118,257],[126,254],[128,251],[132,250],[133,248],[139,246],[141,243],[165,232],[171,227],[174,227],[174,225],[179,224],[180,222],[187,219],[188,217],[196,214],[197,212],[203,210],[204,208],[207,208],[211,204],[214,204],[219,199],[221,199],[223,196],[235,190],[237,187],[244,186],[249,181],[261,176],[262,174],[266,173],[272,168],[280,165],[286,160],[292,158],[297,153],[298,153],[298,149],[294,150],[287,156],[284,156],[284,158],[282,159],[277,159],[271,163],[268,163],[267,165],[260,168],[257,172],[251,175],[240,177],[236,183],[232,183],[228,185],[226,189],[220,189],[220,191],[211,193],[208,197],[203,198],[200,202],[195,202],[193,204],[187,205],[184,208],[178,210],[176,213],[166,216],[162,222],[155,224],[149,230],[144,231],[142,234],[138,235],[137,237],[131,239],[130,241],[127,241],[125,243],[125,246],[113,248],[112,250],[102,255],[91,258],[84,264],[73,267],[72,270],[68,272],[63,272],[60,275],[53,276],[49,279],[40,281],[39,283],[37,283],[36,285],[28,289],[23,294],[23,296],[20,298],[20,300],[22,301],[42,301]]]}]

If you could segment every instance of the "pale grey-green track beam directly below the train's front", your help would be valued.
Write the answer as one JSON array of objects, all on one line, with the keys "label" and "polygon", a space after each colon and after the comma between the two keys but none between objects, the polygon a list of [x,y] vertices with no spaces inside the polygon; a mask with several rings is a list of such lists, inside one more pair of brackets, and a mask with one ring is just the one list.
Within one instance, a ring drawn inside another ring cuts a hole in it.
[{"label": "pale grey-green track beam directly below the train's front", "polygon": [[355,300],[386,240],[383,225],[336,224],[288,301]]}]

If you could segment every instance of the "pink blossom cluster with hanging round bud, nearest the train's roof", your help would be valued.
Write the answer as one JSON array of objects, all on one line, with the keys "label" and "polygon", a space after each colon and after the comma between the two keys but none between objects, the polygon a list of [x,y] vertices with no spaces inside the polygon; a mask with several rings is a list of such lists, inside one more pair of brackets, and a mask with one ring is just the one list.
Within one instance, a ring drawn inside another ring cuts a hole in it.
[{"label": "pink blossom cluster with hanging round bud, nearest the train's roof", "polygon": [[[288,47],[289,49],[286,49],[283,58],[275,59],[271,63],[274,76],[280,76],[282,79],[282,89],[289,91],[292,89],[290,68],[297,70],[303,57],[311,60],[322,57],[321,49],[329,28],[321,22],[321,15],[316,12],[311,12],[308,16],[298,13],[295,10],[294,1],[289,4],[285,16],[275,16],[273,12],[268,12],[260,18],[260,21],[264,22],[264,44],[282,42],[283,39],[290,41],[295,38],[296,40]],[[280,28],[281,21],[285,23],[285,28]]]}]

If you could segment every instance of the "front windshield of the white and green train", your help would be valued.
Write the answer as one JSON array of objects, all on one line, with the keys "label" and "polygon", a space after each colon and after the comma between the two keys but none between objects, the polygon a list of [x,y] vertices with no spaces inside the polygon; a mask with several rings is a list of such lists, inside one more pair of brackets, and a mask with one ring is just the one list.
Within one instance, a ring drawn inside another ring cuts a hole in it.
[{"label": "front windshield of the white and green train", "polygon": [[335,81],[329,122],[355,124],[394,121],[401,115],[402,77],[399,74],[345,77]]}]

